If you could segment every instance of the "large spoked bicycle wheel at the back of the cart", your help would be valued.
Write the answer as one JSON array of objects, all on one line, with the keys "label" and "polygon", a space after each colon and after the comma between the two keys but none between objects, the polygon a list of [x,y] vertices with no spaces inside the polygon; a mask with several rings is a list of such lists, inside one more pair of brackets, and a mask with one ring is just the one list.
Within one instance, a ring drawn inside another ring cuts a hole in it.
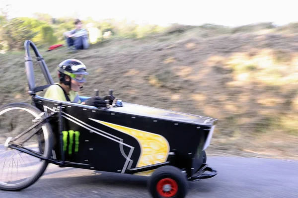
[{"label": "large spoked bicycle wheel at the back of the cart", "polygon": [[[26,103],[0,107],[0,189],[18,191],[34,184],[44,173],[48,162],[16,149],[7,142],[32,127],[42,112]],[[37,125],[15,140],[16,145],[50,158],[54,144],[51,125]]]}]

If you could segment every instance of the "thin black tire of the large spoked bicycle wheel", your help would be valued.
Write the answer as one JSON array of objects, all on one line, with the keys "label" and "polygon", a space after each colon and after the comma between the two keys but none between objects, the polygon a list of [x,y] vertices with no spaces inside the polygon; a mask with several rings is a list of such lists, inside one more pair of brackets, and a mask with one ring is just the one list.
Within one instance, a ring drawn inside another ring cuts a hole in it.
[{"label": "thin black tire of the large spoked bicycle wheel", "polygon": [[[0,107],[0,114],[3,110],[5,109],[9,109],[9,108],[23,108],[23,109],[27,109],[29,111],[31,111],[31,113],[33,112],[36,115],[39,115],[40,113],[42,113],[39,109],[37,109],[36,107],[26,104],[26,103],[10,103],[4,106]],[[49,123],[44,123],[43,126],[45,127],[45,131],[43,130],[43,134],[45,136],[45,139],[47,139],[45,141],[45,152],[44,152],[44,157],[50,158],[51,157],[51,153],[52,153],[52,149],[54,146],[54,135],[52,132],[52,127]],[[47,137],[47,138],[46,138]],[[18,152],[18,151],[17,151]],[[0,181],[0,190],[4,190],[4,191],[20,191],[23,190],[25,188],[28,188],[29,186],[33,185],[44,173],[44,171],[46,170],[47,166],[48,166],[48,162],[41,160],[42,165],[41,168],[36,170],[36,174],[34,176],[32,176],[30,179],[22,182],[22,183],[18,183],[16,185],[4,185],[3,183],[1,183]]]}]

